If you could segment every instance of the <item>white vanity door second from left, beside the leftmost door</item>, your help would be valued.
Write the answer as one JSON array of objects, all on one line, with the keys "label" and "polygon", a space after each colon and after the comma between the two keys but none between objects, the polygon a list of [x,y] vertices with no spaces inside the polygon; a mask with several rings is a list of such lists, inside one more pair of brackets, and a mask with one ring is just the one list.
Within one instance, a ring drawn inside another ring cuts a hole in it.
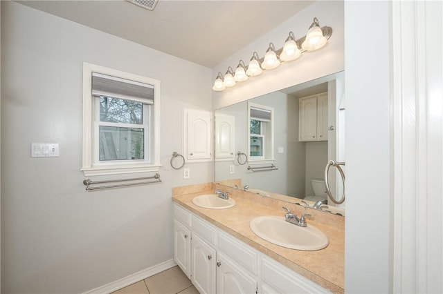
[{"label": "white vanity door second from left, beside the leftmost door", "polygon": [[199,293],[215,293],[215,249],[197,234],[191,239],[191,281]]}]

